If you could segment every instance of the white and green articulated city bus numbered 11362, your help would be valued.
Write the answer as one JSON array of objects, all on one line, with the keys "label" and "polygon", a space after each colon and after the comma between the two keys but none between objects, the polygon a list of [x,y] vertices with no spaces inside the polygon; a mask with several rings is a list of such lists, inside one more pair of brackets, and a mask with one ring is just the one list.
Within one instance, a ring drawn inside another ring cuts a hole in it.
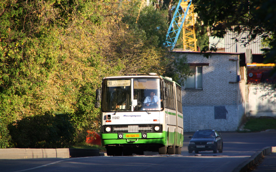
[{"label": "white and green articulated city bus numbered 11362", "polygon": [[171,78],[156,73],[104,77],[96,97],[107,155],[181,154],[181,86]]}]

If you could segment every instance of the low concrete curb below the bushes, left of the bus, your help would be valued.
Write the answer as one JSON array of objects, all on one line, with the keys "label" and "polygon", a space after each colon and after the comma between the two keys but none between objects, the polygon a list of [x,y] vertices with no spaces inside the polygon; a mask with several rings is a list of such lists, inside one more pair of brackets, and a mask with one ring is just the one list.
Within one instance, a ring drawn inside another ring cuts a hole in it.
[{"label": "low concrete curb below the bushes, left of the bus", "polygon": [[0,149],[0,159],[76,158],[100,156],[99,149]]}]

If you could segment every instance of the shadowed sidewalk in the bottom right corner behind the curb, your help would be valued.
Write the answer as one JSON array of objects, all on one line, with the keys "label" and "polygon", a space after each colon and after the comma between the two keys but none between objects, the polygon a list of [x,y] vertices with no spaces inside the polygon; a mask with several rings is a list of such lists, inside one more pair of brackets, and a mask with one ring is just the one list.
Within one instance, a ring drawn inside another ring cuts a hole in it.
[{"label": "shadowed sidewalk in the bottom right corner behind the curb", "polygon": [[276,152],[265,155],[263,161],[253,171],[276,171]]}]

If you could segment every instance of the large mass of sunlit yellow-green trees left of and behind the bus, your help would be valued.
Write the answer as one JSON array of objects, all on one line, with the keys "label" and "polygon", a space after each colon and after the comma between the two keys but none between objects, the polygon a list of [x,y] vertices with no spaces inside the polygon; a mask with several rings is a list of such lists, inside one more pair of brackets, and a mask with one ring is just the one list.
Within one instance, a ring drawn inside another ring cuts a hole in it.
[{"label": "large mass of sunlit yellow-green trees left of and behind the bus", "polygon": [[0,2],[3,147],[83,142],[100,129],[94,101],[104,76],[179,69],[162,47],[166,12],[143,7],[136,23],[138,2]]}]

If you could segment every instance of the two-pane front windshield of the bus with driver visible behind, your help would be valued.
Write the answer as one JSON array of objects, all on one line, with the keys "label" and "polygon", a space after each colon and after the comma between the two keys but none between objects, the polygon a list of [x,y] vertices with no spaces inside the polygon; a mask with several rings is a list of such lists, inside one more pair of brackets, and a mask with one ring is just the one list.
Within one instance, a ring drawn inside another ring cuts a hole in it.
[{"label": "two-pane front windshield of the bus with driver visible behind", "polygon": [[[131,89],[133,88],[133,96]],[[163,109],[159,78],[116,78],[103,80],[102,110],[151,111]]]}]

